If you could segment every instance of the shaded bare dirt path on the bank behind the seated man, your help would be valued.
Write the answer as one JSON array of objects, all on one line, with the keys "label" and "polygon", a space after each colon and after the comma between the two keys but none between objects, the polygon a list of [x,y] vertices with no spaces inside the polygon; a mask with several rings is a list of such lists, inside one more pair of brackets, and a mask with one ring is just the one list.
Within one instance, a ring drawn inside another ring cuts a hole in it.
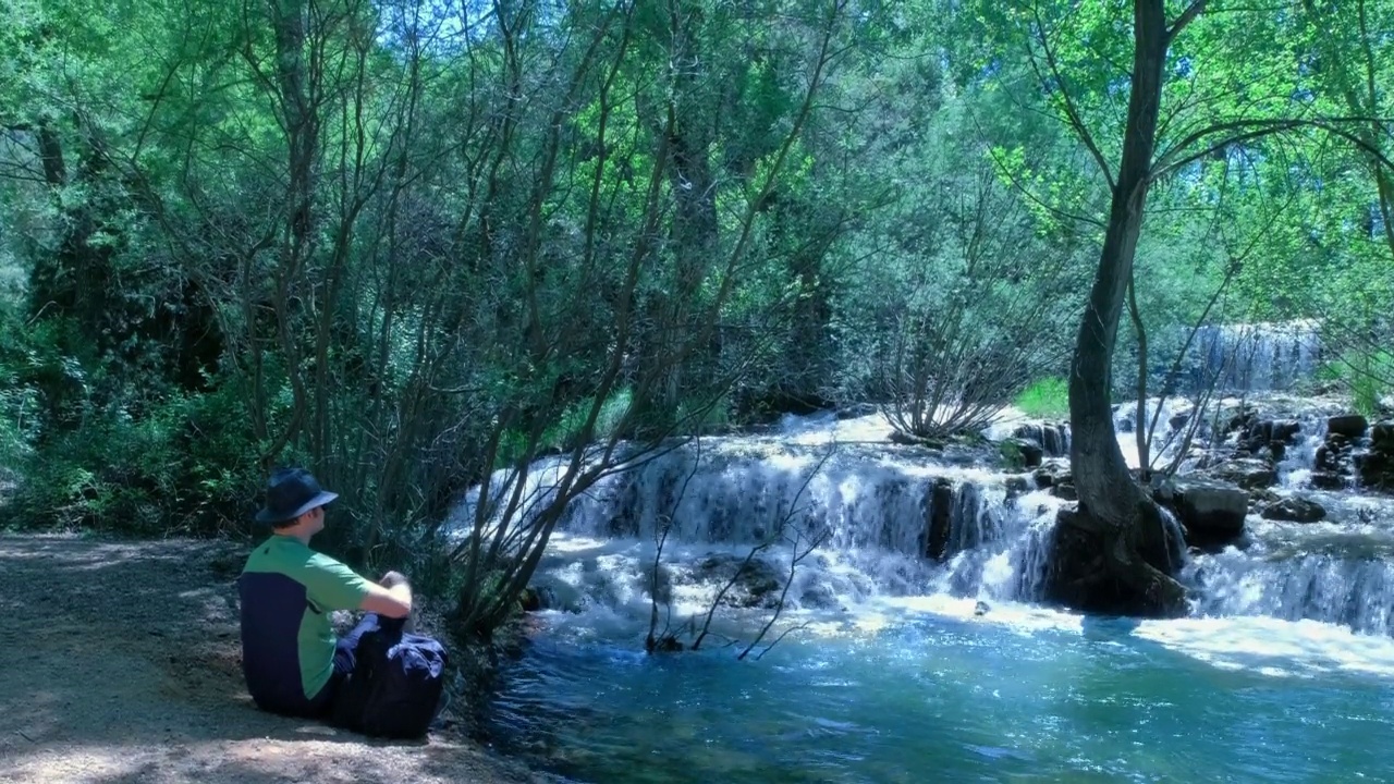
[{"label": "shaded bare dirt path on the bank behind the seated man", "polygon": [[379,742],[258,711],[238,664],[244,552],[0,536],[0,780],[542,780],[463,738]]}]

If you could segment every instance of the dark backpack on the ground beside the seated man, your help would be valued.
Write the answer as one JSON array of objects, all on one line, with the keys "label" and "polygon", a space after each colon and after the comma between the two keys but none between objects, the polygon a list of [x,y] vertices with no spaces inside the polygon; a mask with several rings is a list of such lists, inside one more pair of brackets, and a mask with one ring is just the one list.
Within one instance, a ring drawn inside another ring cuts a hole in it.
[{"label": "dark backpack on the ground beside the seated man", "polygon": [[332,724],[376,738],[425,737],[441,709],[449,656],[434,638],[374,629],[339,686]]}]

